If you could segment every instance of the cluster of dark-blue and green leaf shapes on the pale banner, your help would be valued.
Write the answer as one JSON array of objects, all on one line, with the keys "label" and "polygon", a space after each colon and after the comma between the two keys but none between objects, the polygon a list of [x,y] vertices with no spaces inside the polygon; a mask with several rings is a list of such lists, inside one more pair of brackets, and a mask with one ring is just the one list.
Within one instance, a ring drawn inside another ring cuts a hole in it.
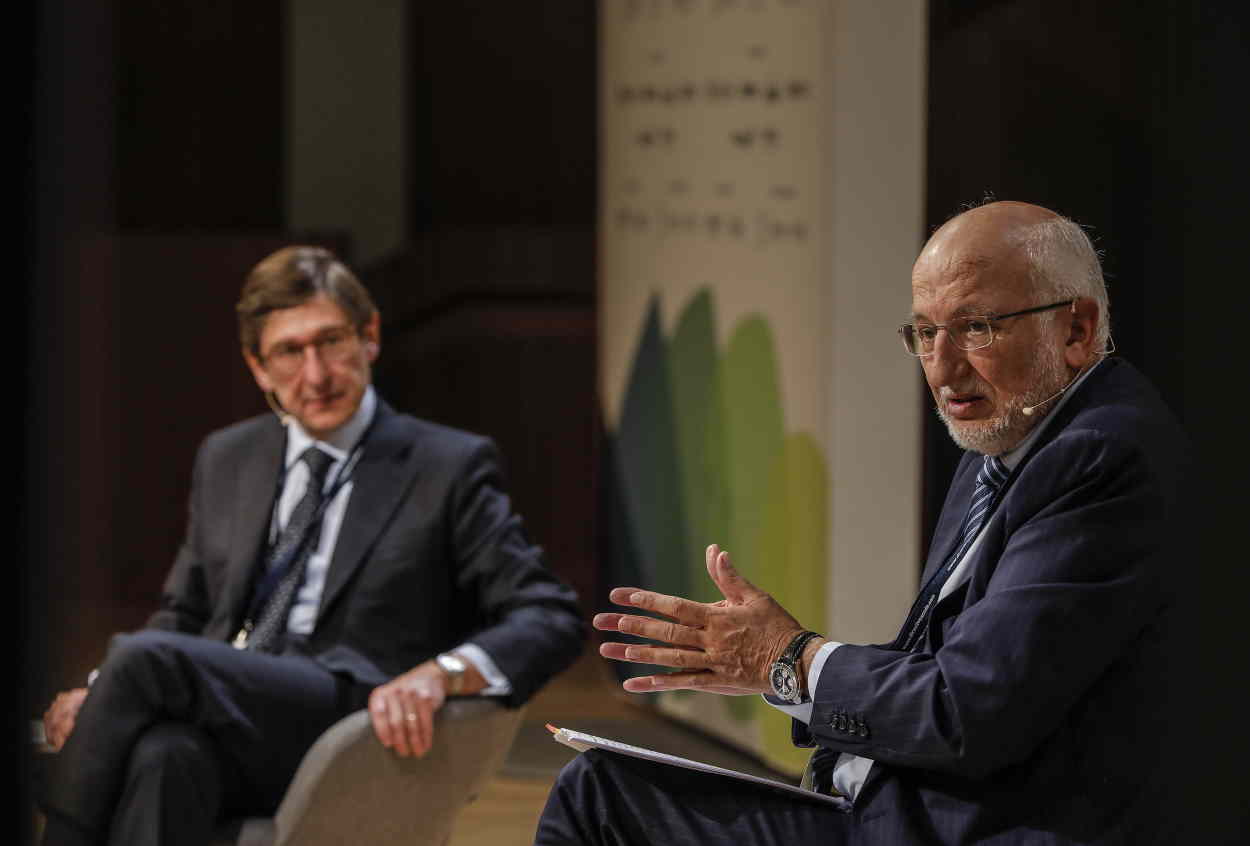
[{"label": "cluster of dark-blue and green leaf shapes on the pale banner", "polygon": [[[704,602],[721,599],[704,567],[720,544],[735,566],[804,625],[822,629],[829,566],[829,472],[808,432],[786,432],[772,330],[751,315],[716,345],[701,289],[665,341],[659,299],[644,319],[616,432],[605,439],[609,581]],[[625,536],[621,536],[624,534]],[[642,665],[619,665],[622,676]],[[774,766],[801,769],[789,721],[755,696],[716,697],[760,729]]]}]

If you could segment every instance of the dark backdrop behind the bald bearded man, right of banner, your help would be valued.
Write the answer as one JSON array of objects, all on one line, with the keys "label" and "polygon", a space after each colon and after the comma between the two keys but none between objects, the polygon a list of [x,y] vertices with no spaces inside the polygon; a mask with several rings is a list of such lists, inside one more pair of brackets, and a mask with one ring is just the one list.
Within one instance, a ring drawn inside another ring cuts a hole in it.
[{"label": "dark backdrop behind the bald bearded man, right of banner", "polygon": [[[1116,355],[1141,369],[1201,459],[1175,562],[1191,591],[1191,751],[1178,802],[1234,842],[1246,820],[1242,716],[1245,422],[1236,409],[1248,214],[1245,4],[1181,0],[931,0],[930,230],[986,194],[1050,206],[1105,252]],[[959,459],[926,394],[926,535]],[[1149,696],[1150,691],[1142,691]],[[1230,814],[1234,811],[1234,814]],[[1244,835],[1246,830],[1240,831]]]}]

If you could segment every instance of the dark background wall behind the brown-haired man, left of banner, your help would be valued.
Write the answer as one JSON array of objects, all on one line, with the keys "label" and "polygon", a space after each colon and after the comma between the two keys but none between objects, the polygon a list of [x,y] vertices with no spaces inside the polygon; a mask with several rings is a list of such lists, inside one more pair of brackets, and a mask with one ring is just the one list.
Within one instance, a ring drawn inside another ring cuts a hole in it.
[{"label": "dark background wall behind the brown-haired man, left of banner", "polygon": [[264,410],[242,275],[292,240],[359,270],[381,392],[495,436],[589,596],[594,6],[65,1],[36,22],[31,702],[150,614],[198,442]]}]

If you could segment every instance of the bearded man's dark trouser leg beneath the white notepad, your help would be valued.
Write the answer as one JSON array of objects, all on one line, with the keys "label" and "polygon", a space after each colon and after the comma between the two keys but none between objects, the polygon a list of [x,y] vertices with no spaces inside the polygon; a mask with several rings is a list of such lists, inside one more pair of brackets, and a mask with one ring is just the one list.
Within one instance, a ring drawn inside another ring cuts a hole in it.
[{"label": "bearded man's dark trouser leg beneath the white notepad", "polygon": [[842,844],[850,816],[750,782],[591,750],[556,780],[536,846]]}]

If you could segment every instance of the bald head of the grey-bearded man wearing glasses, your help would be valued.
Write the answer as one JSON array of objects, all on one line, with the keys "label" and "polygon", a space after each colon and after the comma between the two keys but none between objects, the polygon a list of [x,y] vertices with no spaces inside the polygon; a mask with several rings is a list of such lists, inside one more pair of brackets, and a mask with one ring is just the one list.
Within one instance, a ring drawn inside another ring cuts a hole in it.
[{"label": "bald head of the grey-bearded man wearing glasses", "polygon": [[912,267],[911,307],[914,331],[931,339],[919,355],[938,414],[960,446],[986,455],[1014,449],[1039,419],[1032,410],[1106,337],[1089,237],[1028,202],[978,206],[934,232]]}]

